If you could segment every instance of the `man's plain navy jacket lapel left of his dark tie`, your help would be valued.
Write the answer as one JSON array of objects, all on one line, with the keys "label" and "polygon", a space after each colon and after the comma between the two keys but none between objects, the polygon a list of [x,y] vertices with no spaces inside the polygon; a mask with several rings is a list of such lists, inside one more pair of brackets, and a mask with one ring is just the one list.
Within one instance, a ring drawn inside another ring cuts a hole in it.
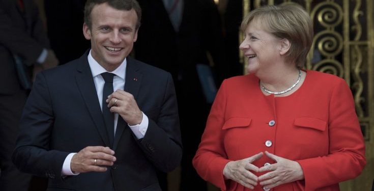
[{"label": "man's plain navy jacket lapel left of his dark tie", "polygon": [[97,97],[97,92],[95,88],[94,79],[92,77],[92,72],[90,65],[87,60],[88,51],[83,54],[79,59],[79,64],[77,66],[77,75],[75,79],[78,84],[80,93],[82,94],[85,105],[95,123],[96,129],[100,134],[105,146],[109,147],[109,138],[105,129],[103,116],[101,113],[99,98]]}]

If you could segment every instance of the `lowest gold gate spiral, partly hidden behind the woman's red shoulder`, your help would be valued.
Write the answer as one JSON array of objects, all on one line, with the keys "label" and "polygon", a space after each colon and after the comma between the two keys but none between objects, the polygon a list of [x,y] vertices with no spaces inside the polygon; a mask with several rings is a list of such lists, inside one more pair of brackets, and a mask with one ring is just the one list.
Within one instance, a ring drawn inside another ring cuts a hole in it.
[{"label": "lowest gold gate spiral, partly hidden behind the woman's red shoulder", "polygon": [[334,74],[339,77],[343,77],[344,75],[344,69],[341,63],[333,59],[326,59],[318,63],[315,63],[312,69],[325,73]]}]

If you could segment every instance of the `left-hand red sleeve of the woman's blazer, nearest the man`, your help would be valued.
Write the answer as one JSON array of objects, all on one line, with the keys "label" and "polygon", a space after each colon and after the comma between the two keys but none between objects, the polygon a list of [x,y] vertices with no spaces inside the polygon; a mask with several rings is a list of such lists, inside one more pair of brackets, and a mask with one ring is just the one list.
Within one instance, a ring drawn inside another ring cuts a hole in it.
[{"label": "left-hand red sleeve of the woman's blazer, nearest the man", "polygon": [[223,145],[222,126],[224,124],[225,108],[225,81],[223,81],[208,116],[202,142],[192,160],[197,173],[204,180],[213,183],[222,190],[226,190],[223,169],[226,163],[231,161],[227,159]]}]

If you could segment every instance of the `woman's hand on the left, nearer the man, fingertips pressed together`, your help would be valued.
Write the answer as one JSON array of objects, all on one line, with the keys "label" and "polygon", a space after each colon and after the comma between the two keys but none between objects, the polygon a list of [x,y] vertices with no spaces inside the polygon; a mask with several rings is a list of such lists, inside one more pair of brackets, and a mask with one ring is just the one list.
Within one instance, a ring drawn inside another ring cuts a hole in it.
[{"label": "woman's hand on the left, nearer the man, fingertips pressed together", "polygon": [[250,171],[258,172],[258,167],[252,165],[252,162],[260,159],[263,152],[244,158],[241,160],[227,162],[223,169],[225,179],[234,180],[243,186],[253,189],[257,185],[258,177]]}]

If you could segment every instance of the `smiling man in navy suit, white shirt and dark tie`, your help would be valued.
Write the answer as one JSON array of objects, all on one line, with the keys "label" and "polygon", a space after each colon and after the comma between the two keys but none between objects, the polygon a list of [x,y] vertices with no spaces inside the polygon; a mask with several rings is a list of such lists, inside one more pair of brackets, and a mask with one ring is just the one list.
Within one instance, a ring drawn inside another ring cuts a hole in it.
[{"label": "smiling man in navy suit, white shirt and dark tie", "polygon": [[47,190],[161,190],[156,169],[182,157],[171,75],[128,57],[135,0],[89,0],[84,15],[91,50],[37,76],[13,161]]}]

